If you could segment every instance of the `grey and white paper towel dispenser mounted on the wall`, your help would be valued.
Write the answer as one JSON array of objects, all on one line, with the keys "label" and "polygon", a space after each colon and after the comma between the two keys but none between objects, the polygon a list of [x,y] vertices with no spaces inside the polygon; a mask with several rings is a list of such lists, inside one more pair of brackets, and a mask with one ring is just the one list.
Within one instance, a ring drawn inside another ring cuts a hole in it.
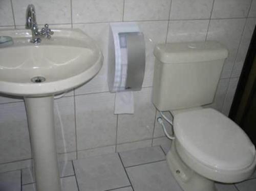
[{"label": "grey and white paper towel dispenser mounted on the wall", "polygon": [[111,92],[142,88],[145,41],[136,23],[111,23],[108,84]]}]

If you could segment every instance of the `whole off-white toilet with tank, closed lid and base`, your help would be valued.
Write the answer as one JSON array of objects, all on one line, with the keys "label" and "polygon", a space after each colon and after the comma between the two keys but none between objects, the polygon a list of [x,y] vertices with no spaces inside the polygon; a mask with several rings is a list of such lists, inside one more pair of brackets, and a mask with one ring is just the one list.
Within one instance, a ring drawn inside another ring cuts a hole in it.
[{"label": "whole off-white toilet with tank, closed lid and base", "polygon": [[174,114],[167,163],[185,191],[214,191],[214,181],[240,182],[254,171],[255,148],[212,103],[227,58],[216,41],[159,44],[154,51],[153,103]]}]

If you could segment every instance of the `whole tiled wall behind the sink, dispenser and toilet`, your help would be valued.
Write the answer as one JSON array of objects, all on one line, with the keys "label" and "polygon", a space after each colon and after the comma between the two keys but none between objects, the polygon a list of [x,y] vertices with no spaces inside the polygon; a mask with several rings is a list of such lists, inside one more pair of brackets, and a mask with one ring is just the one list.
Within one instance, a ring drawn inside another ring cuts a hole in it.
[{"label": "whole tiled wall behind the sink, dispenser and toilet", "polygon": [[[158,145],[167,141],[155,124],[151,103],[156,43],[218,40],[229,49],[212,107],[228,114],[256,23],[256,0],[0,0],[0,30],[24,28],[34,4],[39,25],[79,28],[101,47],[105,61],[86,85],[55,100],[61,160]],[[136,21],[146,40],[143,89],[135,92],[135,114],[114,115],[115,94],[106,83],[109,22]],[[1,59],[1,58],[0,58]],[[24,102],[0,97],[0,171],[30,165]]]}]

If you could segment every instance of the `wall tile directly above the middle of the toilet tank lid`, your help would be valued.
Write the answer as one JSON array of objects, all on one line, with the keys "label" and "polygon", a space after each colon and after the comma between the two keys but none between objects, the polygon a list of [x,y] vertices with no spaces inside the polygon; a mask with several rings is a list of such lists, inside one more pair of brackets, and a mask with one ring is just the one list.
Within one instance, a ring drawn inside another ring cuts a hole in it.
[{"label": "wall tile directly above the middle of the toilet tank lid", "polygon": [[167,42],[205,40],[209,20],[169,21]]}]

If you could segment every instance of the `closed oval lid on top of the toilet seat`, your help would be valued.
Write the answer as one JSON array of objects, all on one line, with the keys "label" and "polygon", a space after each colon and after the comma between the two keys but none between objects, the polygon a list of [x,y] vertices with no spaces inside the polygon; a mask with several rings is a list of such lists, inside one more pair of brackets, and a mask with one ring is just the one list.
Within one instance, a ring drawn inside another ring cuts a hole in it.
[{"label": "closed oval lid on top of the toilet seat", "polygon": [[211,168],[239,170],[254,161],[255,148],[245,132],[214,109],[175,115],[174,132],[190,155]]}]

